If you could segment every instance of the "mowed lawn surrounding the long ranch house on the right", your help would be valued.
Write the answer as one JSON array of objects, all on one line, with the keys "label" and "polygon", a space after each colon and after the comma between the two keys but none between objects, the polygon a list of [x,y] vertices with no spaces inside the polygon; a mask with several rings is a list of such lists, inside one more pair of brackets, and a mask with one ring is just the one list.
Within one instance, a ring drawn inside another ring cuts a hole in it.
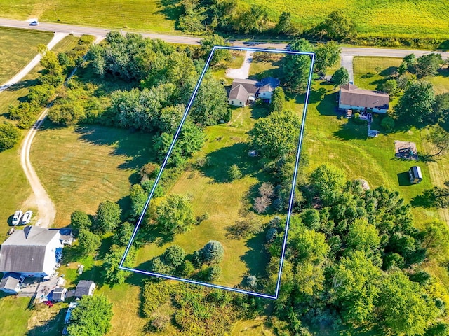
[{"label": "mowed lawn surrounding the long ranch house on the right", "polygon": [[[384,80],[394,73],[401,59],[381,57],[354,57],[354,83],[358,87],[376,90]],[[443,70],[447,71],[447,70]],[[449,91],[449,78],[440,75],[427,78],[441,83],[441,92]],[[397,160],[394,157],[394,141],[413,141],[420,153],[429,152],[427,128],[410,129],[398,125],[396,131],[386,134],[380,126],[382,116],[375,117],[372,128],[380,130],[379,137],[368,139],[367,127],[356,125],[351,120],[340,118],[335,113],[336,91],[330,85],[316,83],[311,94],[311,104],[306,121],[306,138],[304,150],[309,154],[308,170],[314,169],[322,162],[329,162],[341,167],[349,179],[366,179],[372,188],[387,186],[391,190],[398,190],[406,201],[420,195],[424,189],[432,186],[442,186],[448,178],[448,158],[438,158],[436,162],[415,162]],[[324,99],[316,99],[318,91],[326,92]],[[391,101],[396,104],[397,98]],[[420,165],[424,180],[418,185],[407,183],[405,172],[412,165]],[[441,211],[440,211],[441,213]],[[415,224],[422,228],[425,221],[441,218],[436,209],[414,208]],[[447,219],[447,218],[446,218]]]}]

